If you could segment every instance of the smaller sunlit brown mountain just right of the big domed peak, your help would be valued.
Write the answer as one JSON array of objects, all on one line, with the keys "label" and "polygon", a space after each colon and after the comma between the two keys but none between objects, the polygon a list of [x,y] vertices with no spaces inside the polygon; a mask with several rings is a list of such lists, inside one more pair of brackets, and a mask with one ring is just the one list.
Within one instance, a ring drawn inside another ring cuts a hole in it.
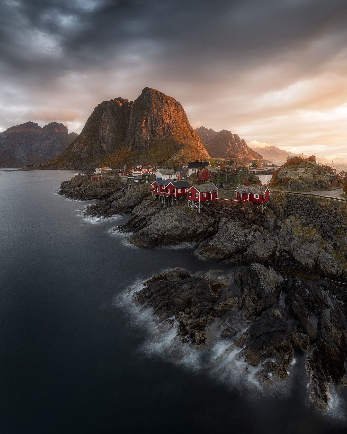
[{"label": "smaller sunlit brown mountain just right of the big domed peak", "polygon": [[219,132],[205,127],[196,128],[197,134],[203,141],[206,151],[212,158],[256,158],[262,159],[262,155],[255,152],[247,145],[239,135],[232,134],[228,130]]}]

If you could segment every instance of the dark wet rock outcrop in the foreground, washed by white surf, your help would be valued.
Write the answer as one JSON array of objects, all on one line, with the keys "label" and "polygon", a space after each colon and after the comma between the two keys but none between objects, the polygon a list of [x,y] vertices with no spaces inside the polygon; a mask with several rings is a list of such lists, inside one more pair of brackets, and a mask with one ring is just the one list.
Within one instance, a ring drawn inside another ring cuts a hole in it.
[{"label": "dark wet rock outcrop in the foreground, washed by white surf", "polygon": [[245,387],[265,393],[286,387],[295,357],[303,355],[306,401],[327,411],[331,385],[347,385],[346,298],[345,289],[327,281],[252,263],[232,277],[174,268],[144,282],[132,302],[151,309],[159,333],[174,333],[171,359],[224,342],[202,369],[242,378]]}]

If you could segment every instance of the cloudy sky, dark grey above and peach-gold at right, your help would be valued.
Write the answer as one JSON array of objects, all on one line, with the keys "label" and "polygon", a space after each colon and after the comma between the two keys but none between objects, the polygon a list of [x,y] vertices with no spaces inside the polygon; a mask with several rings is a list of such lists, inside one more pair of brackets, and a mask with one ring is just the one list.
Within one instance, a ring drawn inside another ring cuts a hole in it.
[{"label": "cloudy sky, dark grey above and peach-gold at right", "polygon": [[347,158],[345,0],[2,0],[0,131],[144,87],[251,146]]}]

